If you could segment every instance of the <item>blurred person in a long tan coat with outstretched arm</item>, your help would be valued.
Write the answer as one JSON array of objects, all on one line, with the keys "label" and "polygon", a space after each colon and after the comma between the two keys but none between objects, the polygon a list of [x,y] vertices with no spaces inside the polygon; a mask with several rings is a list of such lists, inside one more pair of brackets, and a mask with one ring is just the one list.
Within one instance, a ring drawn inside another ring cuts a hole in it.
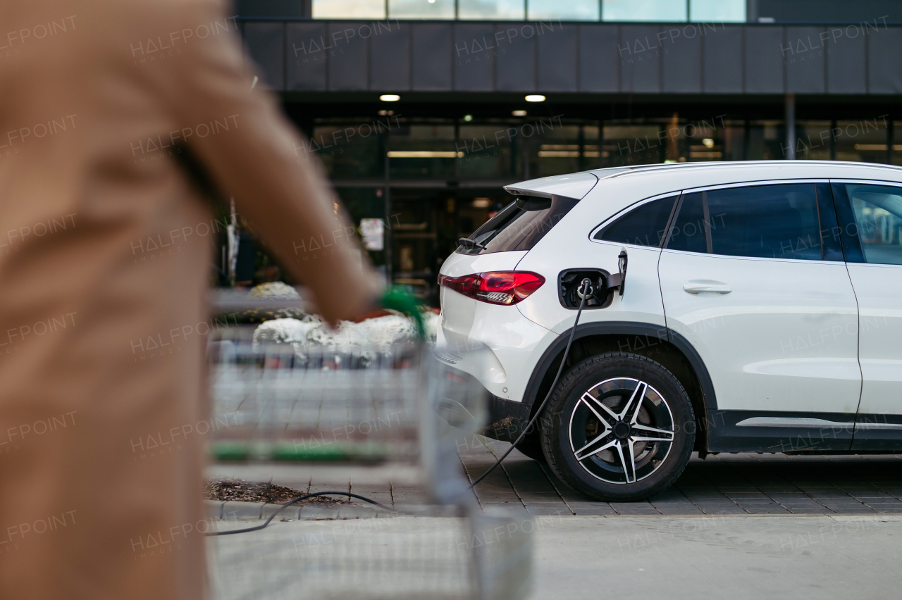
[{"label": "blurred person in a long tan coat with outstretched arm", "polygon": [[311,155],[253,86],[230,14],[213,0],[0,4],[7,597],[206,594],[205,189],[235,197],[328,321],[379,295]]}]

